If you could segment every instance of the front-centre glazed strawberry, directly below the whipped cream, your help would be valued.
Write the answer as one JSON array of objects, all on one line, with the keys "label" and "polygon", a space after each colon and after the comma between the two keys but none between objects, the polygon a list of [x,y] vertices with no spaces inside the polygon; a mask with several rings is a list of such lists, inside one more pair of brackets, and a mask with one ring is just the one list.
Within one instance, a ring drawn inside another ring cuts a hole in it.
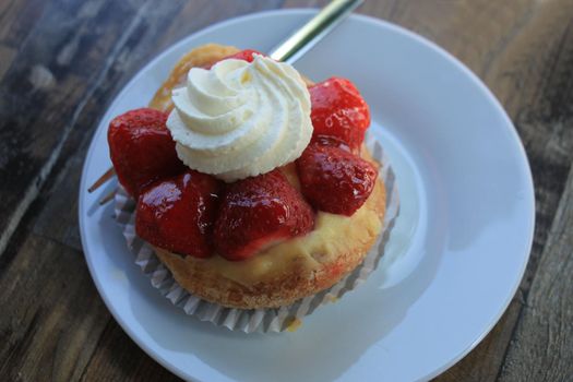
[{"label": "front-centre glazed strawberry, directly below the whipped cream", "polygon": [[274,170],[228,186],[215,222],[215,249],[228,260],[244,260],[313,226],[312,208]]}]

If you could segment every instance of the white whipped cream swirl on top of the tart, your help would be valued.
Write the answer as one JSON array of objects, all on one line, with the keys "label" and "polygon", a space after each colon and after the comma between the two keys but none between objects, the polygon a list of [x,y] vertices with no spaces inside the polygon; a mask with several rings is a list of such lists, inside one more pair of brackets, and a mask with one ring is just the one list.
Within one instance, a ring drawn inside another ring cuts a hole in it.
[{"label": "white whipped cream swirl on top of the tart", "polygon": [[192,68],[172,100],[167,128],[179,158],[228,182],[295,160],[312,135],[310,94],[300,74],[260,55],[253,62]]}]

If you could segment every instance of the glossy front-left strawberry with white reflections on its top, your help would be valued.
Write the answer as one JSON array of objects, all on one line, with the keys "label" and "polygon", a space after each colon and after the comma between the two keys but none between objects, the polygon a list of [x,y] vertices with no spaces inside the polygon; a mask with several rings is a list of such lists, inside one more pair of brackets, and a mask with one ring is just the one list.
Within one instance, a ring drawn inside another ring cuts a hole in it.
[{"label": "glossy front-left strawberry with white reflections on its top", "polygon": [[150,186],[138,200],[138,235],[175,253],[210,256],[220,190],[218,180],[194,170]]}]

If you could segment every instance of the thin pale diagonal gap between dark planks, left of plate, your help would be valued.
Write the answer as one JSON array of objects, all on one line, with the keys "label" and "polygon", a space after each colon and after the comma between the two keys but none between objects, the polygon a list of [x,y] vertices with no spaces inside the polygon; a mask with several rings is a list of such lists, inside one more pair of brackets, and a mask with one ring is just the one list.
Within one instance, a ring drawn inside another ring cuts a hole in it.
[{"label": "thin pale diagonal gap between dark planks, left of plate", "polygon": [[[116,45],[114,46],[114,49],[109,53],[109,57],[104,61],[104,67],[97,74],[97,76],[92,82],[92,85],[87,88],[85,92],[84,97],[80,100],[77,104],[71,121],[64,127],[61,139],[57,143],[56,147],[53,148],[53,152],[50,154],[44,166],[41,166],[39,174],[32,180],[31,186],[26,189],[24,196],[21,199],[20,203],[17,204],[17,207],[12,213],[12,216],[10,216],[8,225],[3,232],[0,235],[0,256],[3,255],[7,244],[10,241],[10,238],[14,234],[15,229],[20,225],[20,222],[22,220],[22,217],[28,210],[29,205],[38,196],[39,190],[46,182],[46,179],[51,174],[51,170],[53,169],[53,165],[56,164],[57,159],[60,157],[60,153],[62,151],[62,147],[68,140],[68,136],[72,132],[73,128],[75,127],[75,123],[83,111],[85,105],[89,102],[89,98],[93,96],[95,91],[98,88],[99,84],[104,81],[106,74],[108,73],[109,69],[116,61],[119,52],[121,51],[121,48],[127,44],[133,32],[136,29],[139,24],[143,21],[143,17],[147,11],[147,9],[151,7],[150,1],[145,2],[145,4],[138,9],[135,15],[131,20],[131,22],[127,25],[124,32],[121,34],[121,36],[118,38]],[[29,36],[26,38],[26,40],[29,38]]]}]

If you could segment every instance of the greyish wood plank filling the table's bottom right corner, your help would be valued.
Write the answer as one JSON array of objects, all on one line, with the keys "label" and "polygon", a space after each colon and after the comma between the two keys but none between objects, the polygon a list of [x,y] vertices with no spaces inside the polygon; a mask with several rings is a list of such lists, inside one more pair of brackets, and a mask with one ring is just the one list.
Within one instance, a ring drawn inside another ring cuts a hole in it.
[{"label": "greyish wood plank filling the table's bottom right corner", "polygon": [[573,168],[500,381],[573,380]]}]

